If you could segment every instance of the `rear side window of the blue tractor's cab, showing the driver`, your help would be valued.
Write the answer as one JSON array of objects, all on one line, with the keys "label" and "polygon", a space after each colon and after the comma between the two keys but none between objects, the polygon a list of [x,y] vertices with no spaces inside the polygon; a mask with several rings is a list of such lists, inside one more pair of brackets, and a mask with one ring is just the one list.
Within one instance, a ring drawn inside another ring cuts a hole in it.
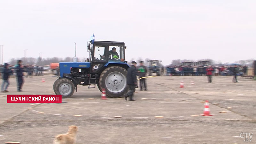
[{"label": "rear side window of the blue tractor's cab, showing the driver", "polygon": [[121,52],[121,56],[120,56],[120,52],[121,52],[120,46],[109,46],[108,61],[120,62],[121,58],[123,58],[123,52]]}]

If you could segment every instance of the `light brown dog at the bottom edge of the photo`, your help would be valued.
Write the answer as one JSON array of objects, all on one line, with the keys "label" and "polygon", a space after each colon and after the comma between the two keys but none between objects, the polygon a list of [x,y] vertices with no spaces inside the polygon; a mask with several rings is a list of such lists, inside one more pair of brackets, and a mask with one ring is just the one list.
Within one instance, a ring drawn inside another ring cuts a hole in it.
[{"label": "light brown dog at the bottom edge of the photo", "polygon": [[71,125],[66,134],[59,134],[54,138],[53,144],[74,144],[77,132],[78,127]]}]

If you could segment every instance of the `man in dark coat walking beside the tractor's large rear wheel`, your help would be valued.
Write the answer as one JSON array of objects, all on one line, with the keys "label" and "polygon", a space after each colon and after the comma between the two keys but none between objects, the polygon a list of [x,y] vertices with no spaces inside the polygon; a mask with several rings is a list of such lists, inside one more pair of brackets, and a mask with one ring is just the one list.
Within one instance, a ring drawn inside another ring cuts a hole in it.
[{"label": "man in dark coat walking beside the tractor's large rear wheel", "polygon": [[125,100],[127,100],[127,97],[130,97],[130,101],[135,101],[133,97],[133,93],[135,92],[135,87],[137,83],[137,68],[136,68],[136,62],[132,61],[132,65],[127,70],[127,84],[130,88],[130,91],[124,94]]}]

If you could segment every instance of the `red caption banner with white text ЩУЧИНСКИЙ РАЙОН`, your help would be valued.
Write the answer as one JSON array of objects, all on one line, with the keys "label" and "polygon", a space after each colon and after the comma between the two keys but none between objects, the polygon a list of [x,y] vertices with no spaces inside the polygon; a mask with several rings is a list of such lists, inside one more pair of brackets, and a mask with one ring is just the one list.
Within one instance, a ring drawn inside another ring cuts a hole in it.
[{"label": "red caption banner with white text \u0429\u0423\u0427\u0418\u041d\u0421\u041a\u0418\u0419 \u0420\u0410\u0419\u041e\u041d", "polygon": [[7,95],[7,103],[61,103],[61,95]]}]

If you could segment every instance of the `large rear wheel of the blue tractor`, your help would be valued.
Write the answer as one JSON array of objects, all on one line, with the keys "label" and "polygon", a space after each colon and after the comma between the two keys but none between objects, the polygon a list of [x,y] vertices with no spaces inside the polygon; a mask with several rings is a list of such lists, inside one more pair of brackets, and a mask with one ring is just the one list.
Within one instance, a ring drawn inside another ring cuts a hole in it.
[{"label": "large rear wheel of the blue tractor", "polygon": [[127,71],[122,67],[111,66],[106,68],[100,75],[100,91],[105,88],[108,97],[123,97],[128,91],[126,75]]}]

